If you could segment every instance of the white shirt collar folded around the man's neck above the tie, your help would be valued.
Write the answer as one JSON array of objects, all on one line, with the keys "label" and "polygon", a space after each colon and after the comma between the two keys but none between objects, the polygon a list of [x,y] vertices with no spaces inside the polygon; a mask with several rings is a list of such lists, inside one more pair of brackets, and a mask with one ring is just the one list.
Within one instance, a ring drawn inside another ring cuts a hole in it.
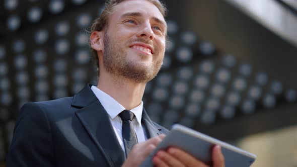
[{"label": "white shirt collar folded around the man's neck above the tie", "polygon": [[[92,86],[91,90],[95,94],[95,96],[100,101],[101,105],[104,107],[108,115],[111,117],[111,119],[114,119],[120,112],[123,110],[126,110],[121,104],[119,104],[115,99],[113,99],[111,96],[106,94],[105,92],[101,91],[96,86]],[[142,110],[143,110],[143,102],[131,109],[130,111],[135,115],[136,120],[139,125],[141,125],[141,117],[142,117]]]}]

